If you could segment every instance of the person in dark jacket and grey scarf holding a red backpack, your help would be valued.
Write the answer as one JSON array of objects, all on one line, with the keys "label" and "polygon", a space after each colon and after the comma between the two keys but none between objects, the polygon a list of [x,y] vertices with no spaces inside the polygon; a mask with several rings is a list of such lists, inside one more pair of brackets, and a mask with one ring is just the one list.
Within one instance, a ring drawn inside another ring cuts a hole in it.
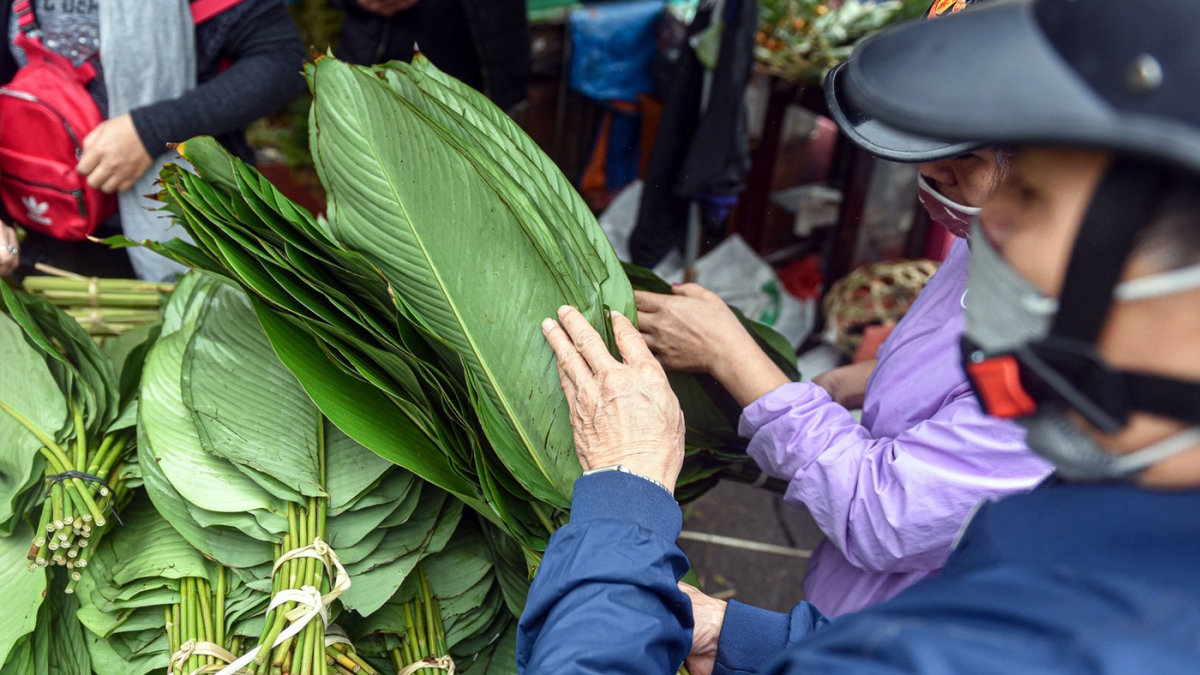
[{"label": "person in dark jacket and grey scarf holding a red backpack", "polygon": [[[118,196],[119,211],[92,233],[134,240],[186,237],[150,209],[154,180],[175,156],[170,143],[214,136],[253,162],[244,129],[304,91],[304,46],[283,0],[34,0],[32,22],[18,26],[13,4],[0,2],[0,84],[26,64],[17,36],[30,34],[78,68],[90,64],[90,97],[103,121],[80,139],[78,173]],[[2,123],[0,123],[2,124]],[[25,130],[19,130],[25,133]],[[36,130],[29,130],[36,133]],[[83,135],[82,135],[83,136]],[[4,175],[11,175],[5,167]],[[0,220],[11,223],[10,214]],[[169,280],[182,267],[145,249],[109,250],[26,228],[18,245],[0,232],[0,274],[18,257],[17,276],[47,263],[84,275]]]}]

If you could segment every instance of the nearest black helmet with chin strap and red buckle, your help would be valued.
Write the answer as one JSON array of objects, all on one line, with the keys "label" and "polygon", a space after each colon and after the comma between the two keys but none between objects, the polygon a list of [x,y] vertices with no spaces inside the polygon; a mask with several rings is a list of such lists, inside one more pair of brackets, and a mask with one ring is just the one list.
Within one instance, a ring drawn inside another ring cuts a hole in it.
[{"label": "nearest black helmet with chin strap and red buckle", "polygon": [[907,135],[1114,153],[1050,335],[1008,354],[965,342],[973,363],[1019,368],[1019,377],[992,369],[991,382],[972,381],[991,412],[990,400],[1024,396],[1073,408],[1105,432],[1134,410],[1200,423],[1200,382],[1121,371],[1094,347],[1164,186],[1200,174],[1200,1],[997,1],[880,34],[836,79],[839,100]]}]

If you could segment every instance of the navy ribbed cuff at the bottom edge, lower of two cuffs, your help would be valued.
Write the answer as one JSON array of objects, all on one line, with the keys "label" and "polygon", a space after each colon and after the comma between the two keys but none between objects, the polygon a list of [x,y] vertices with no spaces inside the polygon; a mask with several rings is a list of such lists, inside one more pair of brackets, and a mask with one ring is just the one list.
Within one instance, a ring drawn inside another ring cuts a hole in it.
[{"label": "navy ribbed cuff at the bottom edge, lower of two cuffs", "polygon": [[730,601],[713,675],[761,673],[787,646],[791,617]]}]

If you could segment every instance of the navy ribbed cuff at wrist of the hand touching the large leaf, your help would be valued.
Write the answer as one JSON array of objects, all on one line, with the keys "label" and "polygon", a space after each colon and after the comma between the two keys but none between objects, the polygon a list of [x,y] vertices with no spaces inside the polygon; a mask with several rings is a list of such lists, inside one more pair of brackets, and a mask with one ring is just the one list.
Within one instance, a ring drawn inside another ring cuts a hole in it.
[{"label": "navy ribbed cuff at wrist of the hand touching the large leaf", "polygon": [[630,473],[606,471],[575,482],[571,524],[623,520],[650,530],[668,542],[679,538],[683,512],[670,492]]}]

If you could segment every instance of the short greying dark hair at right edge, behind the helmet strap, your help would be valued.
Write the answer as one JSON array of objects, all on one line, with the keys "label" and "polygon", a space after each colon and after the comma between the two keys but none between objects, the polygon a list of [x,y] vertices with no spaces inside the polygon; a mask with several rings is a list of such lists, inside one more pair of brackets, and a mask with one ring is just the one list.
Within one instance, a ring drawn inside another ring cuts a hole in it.
[{"label": "short greying dark hair at right edge, behind the helmet strap", "polygon": [[1200,177],[1176,174],[1159,192],[1138,249],[1164,270],[1200,262]]}]

